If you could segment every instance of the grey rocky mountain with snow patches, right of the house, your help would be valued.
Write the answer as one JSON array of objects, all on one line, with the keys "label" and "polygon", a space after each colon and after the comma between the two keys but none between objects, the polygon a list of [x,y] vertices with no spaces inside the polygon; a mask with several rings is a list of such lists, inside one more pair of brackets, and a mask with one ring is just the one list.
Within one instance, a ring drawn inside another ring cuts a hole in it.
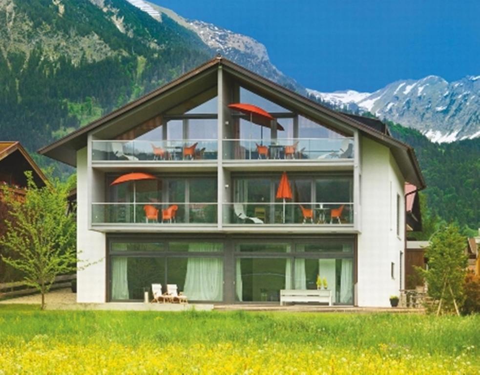
[{"label": "grey rocky mountain with snow patches, right of the house", "polygon": [[326,103],[413,127],[433,142],[480,137],[480,76],[451,83],[438,76],[401,80],[373,93],[307,91]]}]

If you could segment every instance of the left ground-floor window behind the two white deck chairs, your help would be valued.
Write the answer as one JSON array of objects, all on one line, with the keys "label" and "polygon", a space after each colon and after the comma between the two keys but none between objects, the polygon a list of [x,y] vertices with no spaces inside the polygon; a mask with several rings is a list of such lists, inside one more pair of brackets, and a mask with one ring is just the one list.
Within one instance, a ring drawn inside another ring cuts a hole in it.
[{"label": "left ground-floor window behind the two white deck chairs", "polygon": [[176,284],[191,301],[223,299],[223,244],[110,242],[111,300],[141,300],[151,284]]}]

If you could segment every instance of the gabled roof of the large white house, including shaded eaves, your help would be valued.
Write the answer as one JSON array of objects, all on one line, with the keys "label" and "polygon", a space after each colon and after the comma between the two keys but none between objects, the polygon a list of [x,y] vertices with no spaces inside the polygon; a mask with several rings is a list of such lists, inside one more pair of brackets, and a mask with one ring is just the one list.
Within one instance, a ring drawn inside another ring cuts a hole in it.
[{"label": "gabled roof of the large white house, including shaded eaves", "polygon": [[411,146],[408,146],[395,138],[392,138],[389,134],[377,130],[372,126],[366,125],[362,121],[358,121],[353,116],[348,116],[346,114],[334,111],[330,108],[327,108],[321,104],[313,102],[312,100],[297,94],[283,86],[280,86],[277,83],[271,82],[264,77],[259,76],[251,72],[248,69],[243,68],[240,65],[231,62],[221,56],[217,56],[212,60],[204,63],[203,65],[198,66],[197,68],[189,71],[188,73],[182,75],[176,80],[167,83],[166,85],[159,87],[158,89],[144,95],[143,97],[124,105],[123,107],[110,112],[104,117],[86,125],[80,129],[75,130],[74,132],[68,134],[62,139],[52,143],[49,146],[45,146],[39,150],[39,153],[49,156],[53,159],[60,160],[66,164],[72,166],[76,165],[76,154],[75,151],[84,147],[86,145],[87,134],[95,129],[98,129],[102,125],[108,124],[111,121],[121,118],[129,111],[138,109],[139,107],[148,108],[148,104],[151,104],[153,101],[158,100],[159,97],[164,95],[171,94],[176,88],[181,87],[184,84],[193,82],[194,80],[200,79],[202,76],[205,76],[209,72],[216,71],[219,67],[222,67],[224,71],[228,72],[235,78],[241,79],[244,82],[249,82],[251,85],[256,86],[257,88],[264,89],[265,91],[270,92],[278,98],[283,98],[285,101],[289,101],[292,104],[295,104],[298,108],[304,108],[309,111],[314,111],[315,113],[328,117],[329,119],[334,120],[335,122],[350,126],[354,129],[358,129],[362,132],[363,135],[374,139],[376,142],[388,146],[395,159],[397,164],[400,167],[403,175],[410,183],[414,184],[418,188],[425,187],[425,181],[418,166],[417,158],[415,152]]}]

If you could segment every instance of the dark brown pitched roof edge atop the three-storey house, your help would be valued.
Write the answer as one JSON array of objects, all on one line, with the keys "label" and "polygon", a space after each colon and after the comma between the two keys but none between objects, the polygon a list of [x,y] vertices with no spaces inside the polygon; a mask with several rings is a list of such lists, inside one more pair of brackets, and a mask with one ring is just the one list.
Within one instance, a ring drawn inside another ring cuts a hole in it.
[{"label": "dark brown pitched roof edge atop the three-storey house", "polygon": [[[223,66],[228,70],[230,73],[236,74],[236,75],[241,75],[242,77],[249,78],[253,81],[256,81],[266,87],[269,87],[273,90],[275,90],[277,93],[281,93],[283,95],[286,95],[290,100],[297,101],[298,103],[301,103],[303,105],[307,105],[310,108],[313,108],[316,111],[319,111],[321,113],[324,113],[336,120],[339,120],[340,122],[350,125],[358,130],[360,130],[363,134],[365,134],[367,137],[370,137],[377,142],[380,142],[384,144],[385,146],[389,147],[394,147],[395,149],[392,150],[394,153],[394,157],[401,158],[403,161],[408,160],[408,163],[411,164],[414,169],[415,169],[415,176],[411,175],[408,176],[409,180],[414,180],[414,181],[409,181],[411,183],[415,183],[415,185],[418,188],[424,188],[425,187],[425,181],[423,179],[423,176],[420,172],[420,167],[418,166],[417,158],[415,156],[415,152],[411,146],[408,146],[394,138],[392,138],[390,135],[383,133],[382,131],[376,130],[375,127],[371,127],[369,125],[366,125],[365,123],[359,121],[359,119],[355,119],[351,116],[348,116],[346,114],[334,111],[330,108],[327,108],[321,104],[318,104],[316,102],[313,102],[312,100],[304,97],[303,95],[300,95],[296,92],[293,92],[292,90],[289,90],[277,83],[274,83],[270,80],[267,80],[266,78],[251,72],[248,69],[245,69],[244,67],[235,64],[234,62],[231,62],[230,60],[227,60],[225,58],[222,58],[220,56],[217,56],[213,58],[212,60],[209,60],[208,62],[204,63],[203,65],[198,66],[197,68],[189,71],[188,73],[182,75],[181,77],[177,78],[176,80],[167,83],[166,85],[159,87],[158,89],[142,96],[141,98],[124,105],[123,107],[110,112],[109,114],[105,115],[104,117],[90,123],[89,125],[86,125],[80,129],[75,130],[74,132],[68,134],[67,136],[63,137],[62,139],[52,143],[51,145],[45,146],[41,148],[38,152],[41,154],[44,154],[46,156],[50,156],[54,159],[63,161],[64,163],[70,164],[72,166],[75,166],[76,160],[75,157],[67,157],[65,156],[65,153],[71,153],[72,151],[78,150],[86,145],[86,136],[88,132],[100,127],[101,125],[104,125],[108,123],[109,121],[114,120],[115,118],[118,118],[119,116],[123,115],[124,113],[128,112],[129,110],[141,105],[145,104],[148,101],[156,98],[159,95],[165,94],[168,92],[168,90],[172,89],[173,87],[176,87],[177,85],[181,83],[185,83],[188,80],[194,78],[195,76],[199,75],[200,73],[204,73],[208,71],[209,69],[214,69],[217,68],[218,66]],[[401,168],[402,169],[402,168]],[[406,170],[402,170],[402,172],[405,172]],[[407,175],[404,173],[405,177]]]}]

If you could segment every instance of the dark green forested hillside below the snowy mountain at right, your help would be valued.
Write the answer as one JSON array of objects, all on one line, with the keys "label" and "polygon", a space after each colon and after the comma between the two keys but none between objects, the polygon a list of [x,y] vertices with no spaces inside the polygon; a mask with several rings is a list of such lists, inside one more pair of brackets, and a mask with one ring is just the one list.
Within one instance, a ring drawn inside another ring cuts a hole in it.
[{"label": "dark green forested hillside below the snowy mountain at right", "polygon": [[394,137],[415,148],[427,183],[424,215],[480,228],[480,138],[438,144],[417,130],[387,124]]}]

